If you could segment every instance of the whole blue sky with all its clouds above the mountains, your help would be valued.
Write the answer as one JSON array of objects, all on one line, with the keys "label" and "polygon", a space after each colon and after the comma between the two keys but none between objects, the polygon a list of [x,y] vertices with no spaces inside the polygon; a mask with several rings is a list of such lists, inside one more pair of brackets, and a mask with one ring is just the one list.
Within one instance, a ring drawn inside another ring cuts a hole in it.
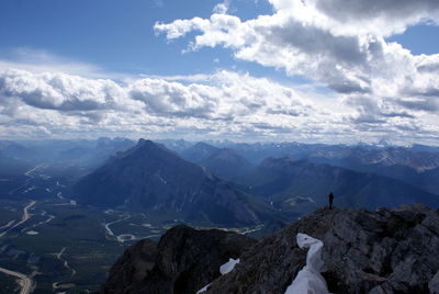
[{"label": "whole blue sky with all its clouds above the mountains", "polygon": [[0,138],[439,145],[437,0],[2,0]]}]

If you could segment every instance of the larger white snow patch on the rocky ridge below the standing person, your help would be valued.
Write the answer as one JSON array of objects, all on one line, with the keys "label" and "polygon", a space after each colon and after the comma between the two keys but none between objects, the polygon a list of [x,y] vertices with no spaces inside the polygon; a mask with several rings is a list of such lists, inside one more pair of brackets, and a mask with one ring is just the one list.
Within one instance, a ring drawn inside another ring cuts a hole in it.
[{"label": "larger white snow patch on the rocky ridge below the standing person", "polygon": [[322,260],[323,242],[306,234],[296,236],[300,248],[309,248],[306,255],[306,265],[297,273],[293,283],[286,289],[285,294],[325,294],[329,293],[326,281],[322,276],[324,262]]}]

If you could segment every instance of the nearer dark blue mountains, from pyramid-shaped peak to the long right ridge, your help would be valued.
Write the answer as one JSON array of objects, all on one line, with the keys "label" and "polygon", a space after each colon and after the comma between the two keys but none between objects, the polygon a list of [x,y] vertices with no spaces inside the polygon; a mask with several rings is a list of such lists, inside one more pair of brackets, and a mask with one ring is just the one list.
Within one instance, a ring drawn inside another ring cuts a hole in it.
[{"label": "nearer dark blue mountains, from pyramid-shaped peak to the long right ridge", "polygon": [[205,143],[180,155],[140,139],[80,179],[71,197],[93,206],[227,226],[296,219],[325,206],[329,192],[340,207],[374,210],[416,202],[439,206],[438,195],[409,183],[311,159],[269,157],[255,166],[230,148]]}]

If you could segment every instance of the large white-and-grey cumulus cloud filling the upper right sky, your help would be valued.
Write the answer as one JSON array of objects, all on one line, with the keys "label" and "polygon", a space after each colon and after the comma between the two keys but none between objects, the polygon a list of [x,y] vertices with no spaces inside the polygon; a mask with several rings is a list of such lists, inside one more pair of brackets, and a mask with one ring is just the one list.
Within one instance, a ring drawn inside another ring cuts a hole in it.
[{"label": "large white-and-grey cumulus cloud filling the upper right sky", "polygon": [[437,117],[439,54],[413,55],[385,37],[414,24],[439,23],[439,1],[269,2],[271,15],[241,21],[213,13],[209,19],[156,23],[155,30],[168,39],[194,32],[190,50],[230,48],[238,59],[324,84],[354,111],[346,116],[352,124],[382,124],[391,129],[416,123],[426,113]]}]

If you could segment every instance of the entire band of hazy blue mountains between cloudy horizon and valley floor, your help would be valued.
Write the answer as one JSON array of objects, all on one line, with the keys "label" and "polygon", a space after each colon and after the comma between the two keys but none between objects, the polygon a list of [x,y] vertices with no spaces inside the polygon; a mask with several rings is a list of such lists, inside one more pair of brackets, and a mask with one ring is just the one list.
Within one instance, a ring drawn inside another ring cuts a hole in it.
[{"label": "entire band of hazy blue mountains between cloudy horizon and valley floor", "polygon": [[296,218],[330,191],[342,207],[439,206],[437,147],[160,142],[0,140],[0,192],[38,196],[25,186],[64,177],[79,203],[227,226]]}]

